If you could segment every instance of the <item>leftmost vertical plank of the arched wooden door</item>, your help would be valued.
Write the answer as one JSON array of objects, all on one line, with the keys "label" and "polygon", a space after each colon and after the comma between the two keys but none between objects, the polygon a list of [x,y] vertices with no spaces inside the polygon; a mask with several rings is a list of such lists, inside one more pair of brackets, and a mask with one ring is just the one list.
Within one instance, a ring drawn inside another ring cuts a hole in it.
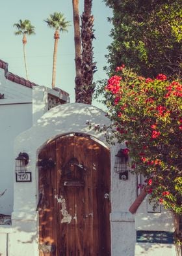
[{"label": "leftmost vertical plank of the arched wooden door", "polygon": [[[39,159],[49,159],[51,157],[55,161],[55,142],[40,152]],[[57,225],[56,225],[56,206],[54,199],[54,189],[56,180],[56,167],[42,168],[39,167],[38,191],[42,193],[42,200],[39,207],[39,246],[40,256],[55,256],[55,251],[45,253],[46,246],[56,246],[57,241]],[[43,249],[43,251],[41,250]]]}]

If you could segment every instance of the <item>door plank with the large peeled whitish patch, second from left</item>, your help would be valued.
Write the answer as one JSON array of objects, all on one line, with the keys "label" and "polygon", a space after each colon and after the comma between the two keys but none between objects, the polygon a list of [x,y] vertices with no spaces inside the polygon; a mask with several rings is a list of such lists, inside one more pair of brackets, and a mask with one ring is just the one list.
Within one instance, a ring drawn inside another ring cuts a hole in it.
[{"label": "door plank with the large peeled whitish patch, second from left", "polygon": [[[72,136],[66,136],[57,140],[57,195],[59,199],[65,200],[64,204],[58,203],[57,207],[57,255],[74,255],[75,250],[75,189],[64,186],[69,179],[66,174],[68,169],[66,163],[74,157],[74,141]],[[72,170],[73,171],[73,170]],[[67,214],[67,216],[66,216]],[[67,221],[66,221],[67,220]]]}]

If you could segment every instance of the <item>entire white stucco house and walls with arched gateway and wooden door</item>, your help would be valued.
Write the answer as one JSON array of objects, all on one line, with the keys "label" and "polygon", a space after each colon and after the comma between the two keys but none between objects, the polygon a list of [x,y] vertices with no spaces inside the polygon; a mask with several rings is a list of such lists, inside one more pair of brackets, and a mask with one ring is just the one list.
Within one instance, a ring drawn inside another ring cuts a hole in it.
[{"label": "entire white stucco house and walls with arched gateway and wooden door", "polygon": [[[114,172],[125,145],[108,144],[96,129],[110,124],[105,113],[62,104],[69,101],[64,91],[0,65],[0,214],[12,219],[0,225],[0,255],[179,256],[174,216],[162,208],[153,212],[135,175],[120,179]],[[29,155],[26,182],[15,172],[22,152]]]}]

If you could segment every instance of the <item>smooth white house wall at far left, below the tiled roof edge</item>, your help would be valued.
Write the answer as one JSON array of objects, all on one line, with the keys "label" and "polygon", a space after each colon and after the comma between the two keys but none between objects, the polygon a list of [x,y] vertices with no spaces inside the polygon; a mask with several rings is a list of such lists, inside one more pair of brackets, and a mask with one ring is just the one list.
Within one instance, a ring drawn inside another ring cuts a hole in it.
[{"label": "smooth white house wall at far left, below the tiled roof edge", "polygon": [[14,138],[32,125],[32,89],[6,80],[0,69],[0,214],[13,208]]}]

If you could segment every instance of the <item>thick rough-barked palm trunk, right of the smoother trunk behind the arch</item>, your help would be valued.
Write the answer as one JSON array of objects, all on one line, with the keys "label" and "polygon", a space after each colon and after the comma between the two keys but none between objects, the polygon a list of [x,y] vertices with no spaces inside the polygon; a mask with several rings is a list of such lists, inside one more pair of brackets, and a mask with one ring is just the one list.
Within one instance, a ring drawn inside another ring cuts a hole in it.
[{"label": "thick rough-barked palm trunk, right of the smoother trunk behind the arch", "polygon": [[84,12],[81,16],[81,40],[82,40],[82,75],[83,93],[81,102],[92,104],[94,93],[93,76],[96,72],[96,62],[93,62],[92,40],[94,39],[94,16],[91,14],[92,0],[84,1]]}]

